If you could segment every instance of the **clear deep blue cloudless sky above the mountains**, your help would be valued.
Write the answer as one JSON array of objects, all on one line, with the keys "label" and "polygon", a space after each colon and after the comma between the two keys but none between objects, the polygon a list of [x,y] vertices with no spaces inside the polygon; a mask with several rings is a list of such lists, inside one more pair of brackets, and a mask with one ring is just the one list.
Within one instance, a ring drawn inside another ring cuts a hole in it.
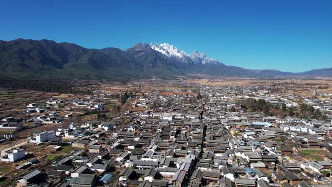
[{"label": "clear deep blue cloudless sky above the mountains", "polygon": [[332,0],[1,0],[0,10],[1,40],[170,43],[244,68],[332,67]]}]

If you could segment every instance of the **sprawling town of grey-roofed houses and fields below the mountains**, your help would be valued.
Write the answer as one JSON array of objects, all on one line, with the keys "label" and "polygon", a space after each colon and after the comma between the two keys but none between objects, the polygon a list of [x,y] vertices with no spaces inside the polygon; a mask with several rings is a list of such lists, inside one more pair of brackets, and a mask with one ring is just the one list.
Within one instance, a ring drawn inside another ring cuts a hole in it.
[{"label": "sprawling town of grey-roofed houses and fields below the mountains", "polygon": [[332,81],[85,86],[0,89],[0,186],[332,186]]}]

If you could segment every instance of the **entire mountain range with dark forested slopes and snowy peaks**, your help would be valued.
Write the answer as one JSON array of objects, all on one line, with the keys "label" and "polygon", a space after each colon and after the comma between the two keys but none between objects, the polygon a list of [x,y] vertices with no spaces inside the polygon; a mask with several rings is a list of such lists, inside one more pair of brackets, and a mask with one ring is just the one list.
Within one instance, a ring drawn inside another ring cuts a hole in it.
[{"label": "entire mountain range with dark forested slopes and snowy peaks", "polygon": [[245,69],[227,66],[204,53],[187,54],[170,44],[138,43],[132,48],[87,49],[52,40],[0,40],[1,75],[10,78],[102,79],[173,78],[211,75],[226,77],[276,78],[280,76],[332,77],[332,68],[301,73]]}]

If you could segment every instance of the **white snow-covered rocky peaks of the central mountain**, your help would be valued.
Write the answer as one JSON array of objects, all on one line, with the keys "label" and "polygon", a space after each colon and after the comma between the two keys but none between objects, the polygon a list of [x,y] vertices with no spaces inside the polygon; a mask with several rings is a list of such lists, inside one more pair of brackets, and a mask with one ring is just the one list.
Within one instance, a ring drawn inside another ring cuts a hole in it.
[{"label": "white snow-covered rocky peaks of the central mountain", "polygon": [[192,54],[187,54],[184,51],[179,51],[177,47],[163,43],[155,44],[150,43],[149,47],[154,50],[162,53],[167,58],[175,60],[180,63],[193,63],[193,64],[222,64],[219,60],[209,58],[204,53],[193,51]]}]

